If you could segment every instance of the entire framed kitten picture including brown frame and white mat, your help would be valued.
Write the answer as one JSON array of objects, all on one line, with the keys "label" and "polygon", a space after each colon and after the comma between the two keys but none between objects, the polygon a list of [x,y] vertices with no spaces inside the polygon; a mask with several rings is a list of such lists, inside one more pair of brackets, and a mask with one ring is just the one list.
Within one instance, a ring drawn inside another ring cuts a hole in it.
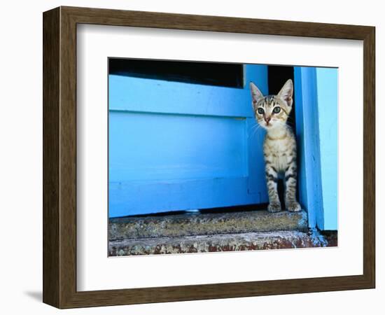
[{"label": "entire framed kitten picture including brown frame and white mat", "polygon": [[43,13],[43,302],[374,288],[374,47],[363,25]]}]

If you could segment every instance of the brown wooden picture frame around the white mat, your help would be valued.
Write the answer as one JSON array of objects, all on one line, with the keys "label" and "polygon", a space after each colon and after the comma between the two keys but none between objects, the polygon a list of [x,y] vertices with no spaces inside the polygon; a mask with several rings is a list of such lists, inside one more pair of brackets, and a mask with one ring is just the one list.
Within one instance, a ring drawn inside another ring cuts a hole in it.
[{"label": "brown wooden picture frame around the white mat", "polygon": [[[151,22],[149,22],[151,21]],[[76,25],[120,25],[363,41],[363,274],[76,291]],[[43,13],[43,302],[59,308],[374,288],[374,27],[59,7]]]}]

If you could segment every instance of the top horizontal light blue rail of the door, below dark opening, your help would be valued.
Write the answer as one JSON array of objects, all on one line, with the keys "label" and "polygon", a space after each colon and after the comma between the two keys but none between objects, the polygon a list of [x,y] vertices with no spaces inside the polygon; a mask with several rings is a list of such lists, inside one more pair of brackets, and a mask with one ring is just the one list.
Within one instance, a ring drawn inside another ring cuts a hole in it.
[{"label": "top horizontal light blue rail of the door, below dark opening", "polygon": [[252,117],[248,91],[130,76],[109,76],[110,111]]}]

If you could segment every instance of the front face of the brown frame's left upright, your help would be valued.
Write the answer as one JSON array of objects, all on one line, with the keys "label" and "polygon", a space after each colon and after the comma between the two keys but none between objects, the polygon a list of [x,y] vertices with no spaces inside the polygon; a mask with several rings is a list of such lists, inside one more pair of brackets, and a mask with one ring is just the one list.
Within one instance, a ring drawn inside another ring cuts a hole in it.
[{"label": "front face of the brown frame's left upright", "polygon": [[60,8],[59,307],[76,295],[76,22]]}]

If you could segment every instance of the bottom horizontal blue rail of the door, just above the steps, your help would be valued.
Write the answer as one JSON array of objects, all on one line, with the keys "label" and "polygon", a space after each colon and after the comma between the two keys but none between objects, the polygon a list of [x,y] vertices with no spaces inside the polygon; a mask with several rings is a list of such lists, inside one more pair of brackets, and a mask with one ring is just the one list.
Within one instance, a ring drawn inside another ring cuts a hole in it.
[{"label": "bottom horizontal blue rail of the door, just above the steps", "polygon": [[109,183],[109,216],[259,204],[246,177]]}]

